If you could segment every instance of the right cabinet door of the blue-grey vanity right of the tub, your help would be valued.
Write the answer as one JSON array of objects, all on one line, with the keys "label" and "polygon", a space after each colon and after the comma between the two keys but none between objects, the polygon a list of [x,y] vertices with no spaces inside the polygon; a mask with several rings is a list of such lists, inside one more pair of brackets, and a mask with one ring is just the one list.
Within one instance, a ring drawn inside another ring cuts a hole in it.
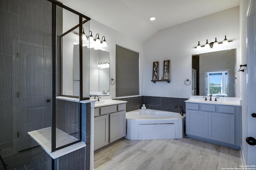
[{"label": "right cabinet door of the blue-grey vanity right of the tub", "polygon": [[209,113],[209,139],[235,144],[234,115]]}]

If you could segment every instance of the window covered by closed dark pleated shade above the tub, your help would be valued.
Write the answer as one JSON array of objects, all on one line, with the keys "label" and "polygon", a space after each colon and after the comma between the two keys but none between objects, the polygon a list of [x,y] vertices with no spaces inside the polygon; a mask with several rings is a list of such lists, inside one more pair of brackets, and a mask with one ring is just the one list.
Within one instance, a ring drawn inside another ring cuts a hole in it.
[{"label": "window covered by closed dark pleated shade above the tub", "polygon": [[140,53],[116,45],[116,97],[140,95]]}]

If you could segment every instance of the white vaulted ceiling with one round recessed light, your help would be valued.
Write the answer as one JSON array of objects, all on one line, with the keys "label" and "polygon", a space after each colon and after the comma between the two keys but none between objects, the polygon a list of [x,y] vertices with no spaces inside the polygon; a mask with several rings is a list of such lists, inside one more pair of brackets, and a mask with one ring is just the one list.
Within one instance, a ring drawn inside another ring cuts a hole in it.
[{"label": "white vaulted ceiling with one round recessed light", "polygon": [[[144,43],[161,29],[240,5],[240,0],[60,0]],[[150,16],[156,20],[150,21]]]}]

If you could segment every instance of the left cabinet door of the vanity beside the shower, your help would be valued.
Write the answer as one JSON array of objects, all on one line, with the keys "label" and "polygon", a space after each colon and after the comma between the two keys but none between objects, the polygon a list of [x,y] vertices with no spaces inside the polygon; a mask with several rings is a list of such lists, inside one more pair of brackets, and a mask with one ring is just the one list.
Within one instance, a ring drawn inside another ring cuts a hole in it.
[{"label": "left cabinet door of the vanity beside the shower", "polygon": [[94,117],[94,150],[108,145],[108,115]]}]

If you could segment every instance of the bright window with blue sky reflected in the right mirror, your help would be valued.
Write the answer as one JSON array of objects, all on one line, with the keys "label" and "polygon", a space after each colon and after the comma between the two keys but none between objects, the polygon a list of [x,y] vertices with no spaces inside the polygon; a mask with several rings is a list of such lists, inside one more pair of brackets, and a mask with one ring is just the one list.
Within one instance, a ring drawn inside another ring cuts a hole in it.
[{"label": "bright window with blue sky reflected in the right mirror", "polygon": [[207,95],[228,96],[228,71],[206,72]]}]

